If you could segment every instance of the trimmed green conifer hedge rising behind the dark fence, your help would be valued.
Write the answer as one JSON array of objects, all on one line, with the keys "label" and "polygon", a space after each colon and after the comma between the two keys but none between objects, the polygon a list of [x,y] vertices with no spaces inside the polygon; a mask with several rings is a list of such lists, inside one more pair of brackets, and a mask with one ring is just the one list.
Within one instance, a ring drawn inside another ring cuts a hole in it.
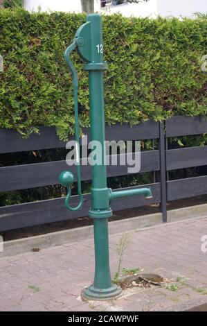
[{"label": "trimmed green conifer hedge rising behind the dark fence", "polygon": [[[64,49],[84,15],[64,12],[30,14],[0,10],[0,128],[22,135],[38,126],[56,126],[66,139],[73,132],[71,74]],[[103,17],[105,108],[107,123],[131,124],[172,115],[206,114],[207,19]],[[87,73],[76,53],[80,78],[80,124],[89,126]]]}]

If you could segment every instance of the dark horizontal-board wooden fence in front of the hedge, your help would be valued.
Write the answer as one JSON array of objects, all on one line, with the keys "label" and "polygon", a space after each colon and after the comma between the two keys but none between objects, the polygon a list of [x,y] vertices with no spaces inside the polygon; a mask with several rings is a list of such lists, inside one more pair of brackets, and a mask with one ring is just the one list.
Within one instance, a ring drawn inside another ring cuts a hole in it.
[{"label": "dark horizontal-board wooden fence in front of the hedge", "polygon": [[[143,196],[122,198],[112,203],[112,209],[121,210],[159,203],[165,222],[168,200],[207,194],[207,175],[168,181],[168,171],[207,165],[207,146],[168,150],[168,138],[199,135],[205,132],[207,132],[207,121],[202,117],[173,117],[165,123],[147,121],[132,128],[127,124],[107,126],[107,140],[153,139],[154,141],[158,139],[159,141],[159,150],[141,152],[140,173],[152,172],[153,183],[135,187],[151,187],[153,198],[150,200],[146,200]],[[90,140],[88,129],[84,130],[84,134]],[[22,139],[14,130],[1,129],[0,139],[0,153],[63,148],[66,145],[64,141],[57,138],[55,128],[40,128],[40,135],[34,134],[28,139]],[[58,174],[65,169],[75,174],[75,166],[67,166],[64,160],[0,167],[0,191],[56,185]],[[119,175],[127,175],[127,166],[107,166],[108,177]],[[91,166],[82,166],[82,180],[91,180]],[[73,196],[71,203],[77,202],[78,197]],[[64,198],[0,207],[0,231],[87,216],[90,205],[90,195],[85,194],[84,205],[78,212],[69,212],[64,207]]]}]

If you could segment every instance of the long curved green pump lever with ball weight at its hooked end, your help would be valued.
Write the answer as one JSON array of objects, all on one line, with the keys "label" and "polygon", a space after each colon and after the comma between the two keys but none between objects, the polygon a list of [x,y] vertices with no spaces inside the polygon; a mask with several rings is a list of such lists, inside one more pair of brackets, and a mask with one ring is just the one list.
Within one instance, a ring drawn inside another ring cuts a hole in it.
[{"label": "long curved green pump lever with ball weight at its hooked end", "polygon": [[74,107],[75,107],[75,141],[76,141],[76,164],[77,164],[77,180],[78,180],[78,196],[80,198],[80,201],[76,207],[71,207],[69,205],[69,199],[71,197],[71,185],[74,181],[73,173],[69,171],[63,171],[59,175],[59,182],[62,186],[67,188],[67,195],[64,200],[64,205],[71,211],[78,210],[83,202],[83,196],[81,192],[81,180],[80,180],[80,155],[79,155],[79,148],[80,142],[80,131],[79,131],[79,124],[78,124],[78,74],[75,70],[75,67],[73,66],[73,62],[71,62],[71,51],[73,51],[77,46],[77,38],[73,40],[73,43],[69,45],[64,52],[64,58],[66,60],[67,65],[69,66],[73,78],[73,98],[74,98]]}]

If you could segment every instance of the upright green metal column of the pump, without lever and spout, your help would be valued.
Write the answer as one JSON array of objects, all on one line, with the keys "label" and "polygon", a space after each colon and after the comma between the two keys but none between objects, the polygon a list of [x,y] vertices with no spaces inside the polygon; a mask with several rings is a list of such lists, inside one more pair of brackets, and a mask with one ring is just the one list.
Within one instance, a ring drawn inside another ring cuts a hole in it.
[{"label": "upright green metal column of the pump, without lever and spout", "polygon": [[83,291],[86,298],[104,300],[114,298],[121,289],[111,283],[109,268],[108,218],[112,215],[109,207],[109,189],[105,166],[105,106],[103,72],[107,65],[103,62],[102,22],[100,15],[88,15],[91,23],[92,62],[84,66],[89,71],[89,98],[91,119],[91,141],[99,141],[102,164],[92,162],[92,206],[89,216],[93,218],[95,245],[95,277],[93,285]]}]

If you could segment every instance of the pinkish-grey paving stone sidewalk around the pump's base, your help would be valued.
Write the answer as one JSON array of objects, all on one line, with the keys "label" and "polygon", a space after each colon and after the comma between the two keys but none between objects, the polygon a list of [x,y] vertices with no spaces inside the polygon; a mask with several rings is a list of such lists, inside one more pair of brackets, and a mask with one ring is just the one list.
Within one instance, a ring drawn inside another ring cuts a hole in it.
[{"label": "pinkish-grey paving stone sidewalk around the pump's base", "polygon": [[[207,216],[129,232],[123,267],[158,273],[173,285],[134,287],[108,302],[80,300],[81,289],[93,279],[93,239],[2,257],[0,311],[179,311],[207,303],[204,235]],[[110,237],[111,275],[117,271],[119,239],[120,234]]]}]

